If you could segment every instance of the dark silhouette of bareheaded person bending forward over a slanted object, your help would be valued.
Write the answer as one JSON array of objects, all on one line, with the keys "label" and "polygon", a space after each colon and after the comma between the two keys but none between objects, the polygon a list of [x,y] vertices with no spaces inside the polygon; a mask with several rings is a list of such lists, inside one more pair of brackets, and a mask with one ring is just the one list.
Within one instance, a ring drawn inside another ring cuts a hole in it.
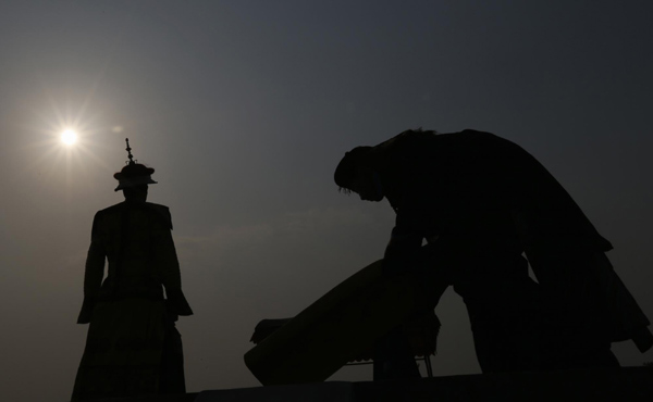
[{"label": "dark silhouette of bareheaded person bending forward over a slanted object", "polygon": [[[396,225],[384,272],[454,287],[484,373],[617,367],[612,342],[653,344],[604,254],[612,244],[517,145],[469,129],[407,130],[347,152],[334,178],[362,200],[390,201]],[[419,376],[405,344],[399,329],[377,342],[375,379]]]}]

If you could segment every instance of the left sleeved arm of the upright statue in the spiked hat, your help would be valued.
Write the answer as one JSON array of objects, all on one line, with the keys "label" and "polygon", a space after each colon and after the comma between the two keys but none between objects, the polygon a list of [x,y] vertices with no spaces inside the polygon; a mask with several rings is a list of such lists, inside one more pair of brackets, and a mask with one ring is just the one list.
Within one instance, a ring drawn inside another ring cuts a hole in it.
[{"label": "left sleeved arm of the upright statue in the spiked hat", "polygon": [[84,269],[84,303],[82,304],[82,311],[77,317],[77,324],[90,323],[93,307],[104,276],[104,257],[107,252],[102,239],[101,216],[101,213],[98,212],[93,219],[90,247],[88,248],[86,266]]}]

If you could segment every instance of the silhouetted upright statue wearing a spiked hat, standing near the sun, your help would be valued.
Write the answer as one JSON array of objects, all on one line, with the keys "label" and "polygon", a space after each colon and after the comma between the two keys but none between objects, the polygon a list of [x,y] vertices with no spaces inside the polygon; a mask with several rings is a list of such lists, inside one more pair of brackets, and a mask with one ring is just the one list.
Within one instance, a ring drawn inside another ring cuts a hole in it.
[{"label": "silhouetted upright statue wearing a spiked hat, standing near the sun", "polygon": [[134,162],[128,141],[127,151],[128,164],[113,176],[125,201],[99,211],[93,223],[77,319],[90,326],[73,401],[185,392],[174,322],[193,311],[182,292],[171,215],[146,202],[155,169]]}]

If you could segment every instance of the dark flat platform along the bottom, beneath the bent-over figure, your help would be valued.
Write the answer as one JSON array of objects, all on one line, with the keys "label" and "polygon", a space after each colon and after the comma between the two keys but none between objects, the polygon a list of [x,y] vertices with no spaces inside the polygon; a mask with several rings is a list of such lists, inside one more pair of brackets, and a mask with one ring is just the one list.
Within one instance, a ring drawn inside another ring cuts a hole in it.
[{"label": "dark flat platform along the bottom, beneath the bent-over figure", "polygon": [[[109,401],[109,400],[108,400]],[[118,402],[119,400],[112,400]],[[653,401],[653,367],[478,374],[210,390],[121,402]]]}]

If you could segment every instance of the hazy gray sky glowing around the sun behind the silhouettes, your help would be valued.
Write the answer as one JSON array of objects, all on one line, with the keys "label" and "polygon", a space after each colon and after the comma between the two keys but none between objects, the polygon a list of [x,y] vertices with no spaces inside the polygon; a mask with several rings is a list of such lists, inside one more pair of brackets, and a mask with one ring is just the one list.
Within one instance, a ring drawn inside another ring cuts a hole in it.
[{"label": "hazy gray sky glowing around the sun behind the silhouettes", "polygon": [[[382,255],[392,210],[332,173],[420,126],[534,154],[653,317],[651,21],[651,1],[2,1],[1,398],[70,397],[90,225],[122,200],[125,137],[172,211],[189,391],[257,386],[242,357],[258,321]],[[436,312],[436,375],[478,373],[460,299]]]}]

